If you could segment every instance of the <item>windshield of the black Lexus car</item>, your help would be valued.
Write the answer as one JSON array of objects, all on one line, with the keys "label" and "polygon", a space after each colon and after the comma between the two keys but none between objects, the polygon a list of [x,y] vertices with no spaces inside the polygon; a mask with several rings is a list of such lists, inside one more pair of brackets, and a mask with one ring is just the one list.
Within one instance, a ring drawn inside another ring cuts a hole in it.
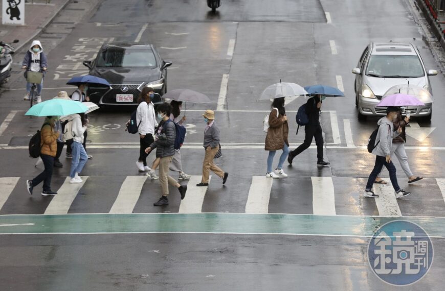
[{"label": "windshield of the black Lexus car", "polygon": [[149,48],[108,47],[100,53],[97,67],[155,67],[156,59]]}]

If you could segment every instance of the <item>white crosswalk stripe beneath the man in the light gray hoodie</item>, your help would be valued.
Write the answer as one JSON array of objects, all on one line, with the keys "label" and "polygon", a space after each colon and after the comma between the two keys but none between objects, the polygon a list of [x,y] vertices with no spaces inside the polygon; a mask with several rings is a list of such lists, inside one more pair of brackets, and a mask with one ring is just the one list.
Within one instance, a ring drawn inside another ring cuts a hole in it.
[{"label": "white crosswalk stripe beneath the man in the light gray hoodie", "polygon": [[374,193],[379,195],[379,198],[366,199],[375,199],[380,216],[402,216],[391,181],[387,182],[388,184],[386,185],[374,184]]}]

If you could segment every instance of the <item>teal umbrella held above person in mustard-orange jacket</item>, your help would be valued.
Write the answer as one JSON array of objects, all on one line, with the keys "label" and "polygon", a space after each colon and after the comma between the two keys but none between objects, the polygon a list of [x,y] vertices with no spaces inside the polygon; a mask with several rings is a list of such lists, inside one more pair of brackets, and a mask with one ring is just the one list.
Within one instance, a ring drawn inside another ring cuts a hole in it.
[{"label": "teal umbrella held above person in mustard-orange jacket", "polygon": [[74,113],[84,113],[88,107],[81,102],[64,99],[51,99],[31,107],[25,115],[63,116]]}]

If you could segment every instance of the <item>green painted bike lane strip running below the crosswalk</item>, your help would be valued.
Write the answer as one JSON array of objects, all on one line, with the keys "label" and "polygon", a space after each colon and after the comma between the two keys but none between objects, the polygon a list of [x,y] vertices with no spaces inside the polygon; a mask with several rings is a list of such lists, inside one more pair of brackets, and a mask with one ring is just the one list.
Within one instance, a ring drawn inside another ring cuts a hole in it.
[{"label": "green painted bike lane strip running below the crosswalk", "polygon": [[408,220],[445,237],[445,217],[323,216],[244,213],[3,215],[0,234],[233,233],[372,236],[383,224]]}]

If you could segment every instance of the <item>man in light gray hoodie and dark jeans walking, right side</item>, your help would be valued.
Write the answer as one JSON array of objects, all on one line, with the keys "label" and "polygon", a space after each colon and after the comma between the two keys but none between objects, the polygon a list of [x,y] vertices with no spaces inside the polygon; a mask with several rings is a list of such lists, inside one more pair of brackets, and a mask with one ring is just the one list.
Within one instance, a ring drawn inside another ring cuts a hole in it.
[{"label": "man in light gray hoodie and dark jeans walking, right side", "polygon": [[392,183],[392,187],[394,188],[396,198],[402,198],[410,195],[410,192],[407,192],[403,189],[400,189],[397,183],[396,169],[394,164],[391,161],[391,147],[392,147],[392,139],[397,137],[402,129],[399,128],[396,132],[394,132],[394,124],[393,120],[397,117],[398,113],[397,107],[388,107],[386,109],[386,116],[382,117],[377,125],[379,126],[379,131],[377,132],[377,137],[375,138],[374,150],[372,154],[375,155],[375,164],[372,169],[371,174],[368,178],[368,183],[365,188],[365,197],[376,198],[379,195],[376,195],[372,190],[372,186],[374,184],[375,178],[382,171],[383,166],[388,169],[389,178]]}]

